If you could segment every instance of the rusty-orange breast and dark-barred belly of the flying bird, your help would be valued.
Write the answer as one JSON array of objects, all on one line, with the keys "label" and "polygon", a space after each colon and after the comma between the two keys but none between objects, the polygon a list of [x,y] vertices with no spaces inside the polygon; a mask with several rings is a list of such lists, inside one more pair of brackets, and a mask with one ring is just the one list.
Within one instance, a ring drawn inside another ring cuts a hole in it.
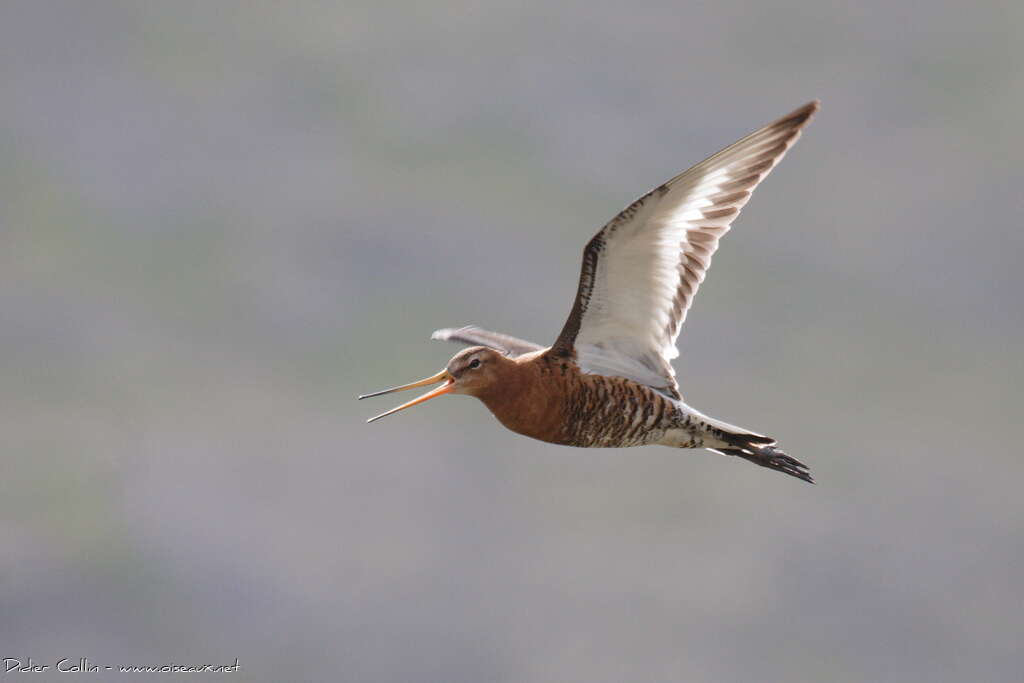
[{"label": "rusty-orange breast and dark-barred belly of the flying bird", "polygon": [[539,354],[480,396],[503,425],[532,438],[583,447],[651,443],[677,420],[675,403],[632,380],[585,375],[568,357]]}]

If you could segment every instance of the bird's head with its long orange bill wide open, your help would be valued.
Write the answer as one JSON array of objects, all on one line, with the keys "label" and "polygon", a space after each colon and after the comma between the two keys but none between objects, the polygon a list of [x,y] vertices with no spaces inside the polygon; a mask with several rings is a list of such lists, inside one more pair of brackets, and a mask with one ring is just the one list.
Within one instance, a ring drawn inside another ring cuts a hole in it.
[{"label": "bird's head with its long orange bill wide open", "polygon": [[375,391],[374,393],[364,394],[359,396],[359,399],[361,400],[364,398],[370,398],[371,396],[381,396],[386,393],[404,391],[407,389],[416,389],[417,387],[429,386],[431,384],[443,382],[443,384],[439,387],[431,389],[419,398],[414,398],[408,403],[402,403],[398,408],[393,408],[387,413],[381,413],[377,417],[367,420],[367,422],[373,422],[374,420],[380,420],[381,418],[385,418],[393,413],[403,411],[407,408],[412,408],[417,403],[422,403],[425,400],[429,400],[446,393],[464,393],[469,394],[470,396],[480,396],[489,388],[496,386],[501,381],[504,373],[514,365],[514,360],[500,351],[487,348],[486,346],[473,346],[472,348],[459,351],[452,356],[452,359],[449,360],[444,370],[436,375],[422,379],[419,382],[413,382],[412,384],[394,387],[393,389],[385,389],[383,391]]}]

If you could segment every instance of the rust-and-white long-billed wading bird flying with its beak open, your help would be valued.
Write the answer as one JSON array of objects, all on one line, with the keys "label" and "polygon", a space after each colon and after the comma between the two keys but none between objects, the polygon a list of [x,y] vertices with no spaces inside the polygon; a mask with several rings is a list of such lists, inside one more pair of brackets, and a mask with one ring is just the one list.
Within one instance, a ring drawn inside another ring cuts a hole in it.
[{"label": "rust-and-white long-billed wading bird flying with its beak open", "polygon": [[475,326],[439,373],[370,398],[441,383],[368,422],[444,394],[475,396],[513,432],[581,447],[708,449],[814,483],[777,440],[683,400],[676,340],[719,241],[818,111],[813,100],[636,200],[587,243],[572,309],[543,346]]}]

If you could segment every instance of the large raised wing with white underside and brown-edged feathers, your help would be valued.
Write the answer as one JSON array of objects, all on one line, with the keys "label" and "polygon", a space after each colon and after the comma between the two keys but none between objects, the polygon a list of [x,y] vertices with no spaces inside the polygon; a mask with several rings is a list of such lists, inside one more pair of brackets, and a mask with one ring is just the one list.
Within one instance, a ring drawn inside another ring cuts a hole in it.
[{"label": "large raised wing with white underside and brown-edged feathers", "polygon": [[583,372],[679,395],[676,338],[755,187],[800,137],[812,101],[709,157],[627,207],[588,243],[572,312],[552,353]]}]

